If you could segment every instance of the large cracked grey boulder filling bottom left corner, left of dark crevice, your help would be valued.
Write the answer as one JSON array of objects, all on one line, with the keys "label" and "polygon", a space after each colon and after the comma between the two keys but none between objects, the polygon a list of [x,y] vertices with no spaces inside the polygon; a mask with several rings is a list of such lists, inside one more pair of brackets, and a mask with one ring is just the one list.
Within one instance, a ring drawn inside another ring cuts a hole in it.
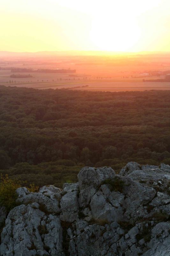
[{"label": "large cracked grey boulder filling bottom left corner, left of dark crevice", "polygon": [[1,255],[64,255],[60,219],[32,205],[21,204],[8,214],[1,233]]}]

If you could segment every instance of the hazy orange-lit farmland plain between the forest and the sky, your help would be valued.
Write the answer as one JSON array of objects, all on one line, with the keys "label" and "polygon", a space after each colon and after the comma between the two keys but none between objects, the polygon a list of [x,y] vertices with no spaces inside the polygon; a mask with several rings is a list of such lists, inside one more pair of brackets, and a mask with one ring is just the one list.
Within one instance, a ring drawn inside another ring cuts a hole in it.
[{"label": "hazy orange-lit farmland plain between the forest and the sky", "polygon": [[0,52],[0,84],[90,91],[169,90],[169,52]]}]

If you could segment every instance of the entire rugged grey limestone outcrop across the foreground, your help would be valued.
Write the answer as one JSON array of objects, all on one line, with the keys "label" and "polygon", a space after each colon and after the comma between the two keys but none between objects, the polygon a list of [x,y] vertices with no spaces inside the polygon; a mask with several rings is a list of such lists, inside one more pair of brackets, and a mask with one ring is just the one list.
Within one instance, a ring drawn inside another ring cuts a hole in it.
[{"label": "entire rugged grey limestone outcrop across the foreground", "polygon": [[63,190],[16,192],[20,205],[5,220],[1,256],[170,255],[169,165],[130,162],[119,175],[84,167]]}]

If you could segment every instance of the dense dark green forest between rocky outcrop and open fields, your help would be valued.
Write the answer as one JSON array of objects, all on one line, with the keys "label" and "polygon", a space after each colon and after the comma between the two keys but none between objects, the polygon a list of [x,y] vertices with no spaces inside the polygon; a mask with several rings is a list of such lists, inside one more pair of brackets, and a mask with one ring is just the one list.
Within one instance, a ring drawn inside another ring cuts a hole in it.
[{"label": "dense dark green forest between rocky outcrop and open fields", "polygon": [[23,184],[75,182],[82,166],[170,164],[170,91],[0,86],[0,172]]}]

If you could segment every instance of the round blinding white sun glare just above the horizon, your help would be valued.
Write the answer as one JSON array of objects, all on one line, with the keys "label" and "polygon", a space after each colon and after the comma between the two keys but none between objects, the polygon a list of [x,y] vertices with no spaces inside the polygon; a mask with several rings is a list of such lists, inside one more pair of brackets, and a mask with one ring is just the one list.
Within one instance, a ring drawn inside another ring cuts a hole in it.
[{"label": "round blinding white sun glare just above the horizon", "polygon": [[95,17],[90,37],[101,51],[135,51],[140,27],[133,15],[107,12]]}]

